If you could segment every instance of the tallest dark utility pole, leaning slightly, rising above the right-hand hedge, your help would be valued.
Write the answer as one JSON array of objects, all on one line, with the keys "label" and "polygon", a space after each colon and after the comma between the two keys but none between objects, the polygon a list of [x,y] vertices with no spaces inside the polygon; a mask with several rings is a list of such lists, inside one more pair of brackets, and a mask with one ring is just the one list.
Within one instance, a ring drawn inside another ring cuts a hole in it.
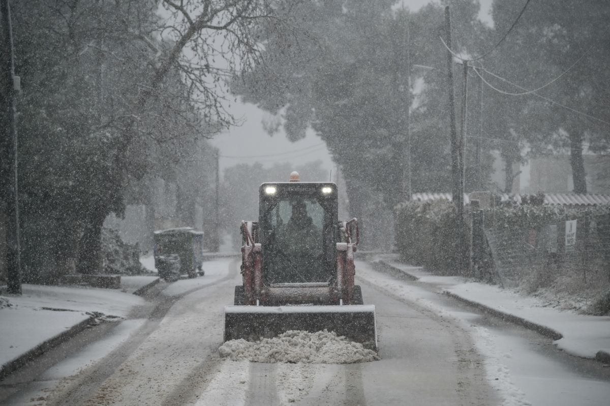
[{"label": "tallest dark utility pole, leaning slightly, rising above the right-hand hedge", "polygon": [[[445,7],[445,42],[451,49],[451,13],[449,6]],[[459,161],[458,161],[458,132],[456,130],[455,94],[453,90],[453,55],[447,50],[447,87],[449,90],[449,118],[451,139],[451,195],[454,203],[459,201]]]}]

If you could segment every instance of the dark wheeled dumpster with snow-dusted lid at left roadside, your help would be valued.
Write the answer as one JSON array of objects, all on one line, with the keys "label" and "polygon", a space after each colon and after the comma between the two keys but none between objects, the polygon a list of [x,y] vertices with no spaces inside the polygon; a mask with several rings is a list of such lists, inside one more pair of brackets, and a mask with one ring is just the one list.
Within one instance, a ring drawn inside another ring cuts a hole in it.
[{"label": "dark wheeled dumpster with snow-dusted lid at left roadside", "polygon": [[[203,275],[203,231],[191,227],[169,228],[154,232],[154,262],[159,270],[159,277],[175,280],[175,271],[167,272],[168,258],[177,255],[179,258],[179,274],[195,278]],[[173,261],[172,261],[173,262]],[[162,275],[163,274],[163,275]]]}]

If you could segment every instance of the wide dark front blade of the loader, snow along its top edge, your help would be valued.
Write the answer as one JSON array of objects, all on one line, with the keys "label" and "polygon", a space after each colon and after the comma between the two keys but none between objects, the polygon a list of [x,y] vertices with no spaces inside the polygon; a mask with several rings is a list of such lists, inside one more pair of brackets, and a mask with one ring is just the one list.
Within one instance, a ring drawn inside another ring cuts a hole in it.
[{"label": "wide dark front blade of the loader, snow along its top edge", "polygon": [[224,341],[255,341],[289,330],[328,330],[377,349],[375,305],[224,307]]}]

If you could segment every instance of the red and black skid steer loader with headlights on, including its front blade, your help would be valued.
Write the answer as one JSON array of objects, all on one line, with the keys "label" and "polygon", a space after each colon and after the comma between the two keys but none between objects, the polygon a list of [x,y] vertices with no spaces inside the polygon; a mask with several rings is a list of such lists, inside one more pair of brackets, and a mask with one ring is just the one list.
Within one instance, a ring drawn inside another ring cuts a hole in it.
[{"label": "red and black skid steer loader with headlights on, including its front blade", "polygon": [[377,349],[375,306],[354,285],[357,219],[337,219],[334,183],[264,183],[259,220],[242,221],[242,285],[224,308],[224,341],[288,330],[337,335]]}]

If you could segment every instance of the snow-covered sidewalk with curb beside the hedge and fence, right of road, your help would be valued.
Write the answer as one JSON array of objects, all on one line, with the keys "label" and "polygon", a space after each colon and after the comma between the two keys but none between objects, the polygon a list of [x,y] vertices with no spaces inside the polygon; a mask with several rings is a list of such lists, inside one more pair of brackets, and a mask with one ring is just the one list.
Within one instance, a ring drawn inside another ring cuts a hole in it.
[{"label": "snow-covered sidewalk with curb beside the hedge and fence, right of road", "polygon": [[536,330],[576,357],[610,363],[610,316],[587,316],[574,311],[545,307],[536,297],[465,280],[462,277],[432,275],[422,267],[400,263],[393,256],[376,256],[371,264],[397,278],[436,285],[445,294],[487,313]]}]

